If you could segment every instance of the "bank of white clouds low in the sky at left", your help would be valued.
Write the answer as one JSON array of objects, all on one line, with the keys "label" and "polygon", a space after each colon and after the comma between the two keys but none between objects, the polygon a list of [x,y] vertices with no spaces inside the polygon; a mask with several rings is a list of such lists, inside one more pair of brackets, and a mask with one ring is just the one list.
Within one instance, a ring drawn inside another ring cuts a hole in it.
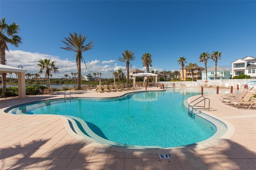
[{"label": "bank of white clouds low in the sky at left", "polygon": [[[61,59],[58,56],[48,55],[48,54],[41,54],[41,53],[31,53],[26,51],[10,50],[9,52],[6,51],[6,65],[10,65],[12,67],[18,67],[19,65],[22,66],[23,69],[27,70],[27,73],[38,73],[39,67],[37,66],[39,59],[50,58],[51,61],[55,61],[56,67],[58,67],[59,73],[52,73],[53,78],[61,78],[64,77],[65,74],[68,74],[71,77],[71,72],[76,73],[76,61],[68,60],[68,58]],[[105,63],[113,63],[114,60],[107,61]],[[103,78],[111,78],[112,73],[114,72],[115,67],[117,64],[114,65],[101,65],[102,62],[99,60],[89,61],[86,63],[87,69],[84,63],[81,63],[81,74],[86,75],[88,73],[102,73]],[[122,67],[122,66],[121,66]],[[124,67],[125,69],[125,67]],[[44,77],[44,71],[41,77]]]}]

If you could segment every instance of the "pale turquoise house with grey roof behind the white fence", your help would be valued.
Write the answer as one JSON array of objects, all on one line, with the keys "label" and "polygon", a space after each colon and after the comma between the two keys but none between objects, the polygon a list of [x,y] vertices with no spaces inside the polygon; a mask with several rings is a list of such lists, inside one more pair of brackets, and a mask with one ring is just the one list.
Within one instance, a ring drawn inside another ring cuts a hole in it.
[{"label": "pale turquoise house with grey roof behind the white fence", "polygon": [[[217,66],[217,79],[230,79],[230,70]],[[202,80],[206,80],[206,71],[202,71]],[[207,69],[207,80],[215,80],[215,66]]]}]

